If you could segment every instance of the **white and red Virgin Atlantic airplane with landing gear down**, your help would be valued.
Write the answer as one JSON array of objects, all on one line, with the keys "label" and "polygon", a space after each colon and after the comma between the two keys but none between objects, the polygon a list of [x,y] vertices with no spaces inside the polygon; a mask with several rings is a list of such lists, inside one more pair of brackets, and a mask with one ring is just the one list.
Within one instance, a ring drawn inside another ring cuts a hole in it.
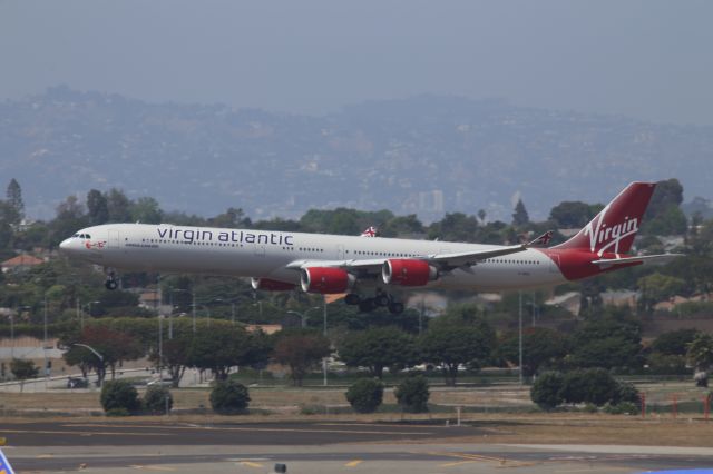
[{"label": "white and red Virgin Atlantic airplane with landing gear down", "polygon": [[546,247],[551,233],[528,244],[500,246],[105,224],[79,230],[59,248],[102,266],[108,289],[118,286],[117,269],[250,277],[255,289],[345,294],[345,303],[361,312],[387,307],[398,314],[404,306],[395,295],[409,289],[529,289],[668,261],[678,255],[628,254],[654,188],[653,182],[632,182],[574,237],[554,247]]}]

